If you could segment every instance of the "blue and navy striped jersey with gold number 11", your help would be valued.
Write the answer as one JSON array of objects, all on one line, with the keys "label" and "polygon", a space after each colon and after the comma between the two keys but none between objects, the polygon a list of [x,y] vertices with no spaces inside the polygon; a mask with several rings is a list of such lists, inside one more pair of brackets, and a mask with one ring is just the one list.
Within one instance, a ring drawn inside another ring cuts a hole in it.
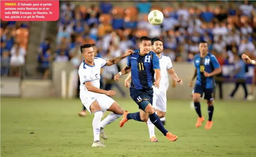
[{"label": "blue and navy striped jersey with gold number 11", "polygon": [[128,56],[127,66],[131,67],[131,85],[135,89],[151,88],[154,82],[154,70],[160,69],[158,56],[152,51],[143,56],[139,50],[135,50]]}]

